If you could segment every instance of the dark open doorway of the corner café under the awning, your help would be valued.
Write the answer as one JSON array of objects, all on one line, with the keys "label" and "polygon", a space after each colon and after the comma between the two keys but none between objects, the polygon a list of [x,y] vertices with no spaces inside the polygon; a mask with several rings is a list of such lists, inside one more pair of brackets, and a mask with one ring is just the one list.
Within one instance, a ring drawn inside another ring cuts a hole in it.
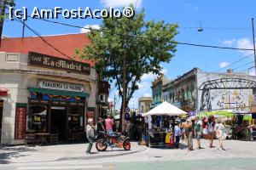
[{"label": "dark open doorway of the corner caf\u00e9 under the awning", "polygon": [[58,133],[59,141],[66,140],[67,110],[63,106],[50,107],[51,133]]}]

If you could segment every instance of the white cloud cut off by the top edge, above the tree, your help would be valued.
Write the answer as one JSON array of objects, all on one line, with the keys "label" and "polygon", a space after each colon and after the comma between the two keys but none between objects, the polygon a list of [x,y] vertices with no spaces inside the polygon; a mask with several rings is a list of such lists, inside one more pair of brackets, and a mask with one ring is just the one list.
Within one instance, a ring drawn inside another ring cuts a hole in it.
[{"label": "white cloud cut off by the top edge, above the tree", "polygon": [[131,3],[140,8],[143,0],[101,0],[101,3],[106,7],[125,7],[129,6]]}]

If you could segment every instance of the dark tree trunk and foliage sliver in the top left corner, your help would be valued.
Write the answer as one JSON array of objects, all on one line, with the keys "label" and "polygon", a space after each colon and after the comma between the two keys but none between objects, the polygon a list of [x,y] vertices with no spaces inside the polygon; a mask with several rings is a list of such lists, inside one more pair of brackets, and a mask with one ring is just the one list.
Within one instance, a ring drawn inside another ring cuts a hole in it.
[{"label": "dark tree trunk and foliage sliver in the top left corner", "polygon": [[6,16],[5,8],[14,7],[15,0],[1,0],[1,9],[0,9],[0,47],[1,47],[1,39],[3,32],[3,21]]}]

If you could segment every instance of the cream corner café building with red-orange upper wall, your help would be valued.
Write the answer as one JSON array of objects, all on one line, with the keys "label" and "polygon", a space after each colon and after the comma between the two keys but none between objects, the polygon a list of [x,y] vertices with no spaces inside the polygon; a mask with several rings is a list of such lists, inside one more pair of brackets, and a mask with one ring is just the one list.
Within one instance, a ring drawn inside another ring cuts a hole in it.
[{"label": "cream corner caf\u00e9 building with red-orange upper wall", "polygon": [[24,144],[26,133],[58,133],[59,141],[84,140],[96,119],[97,75],[92,61],[75,56],[85,34],[3,38],[0,52],[1,144]]}]

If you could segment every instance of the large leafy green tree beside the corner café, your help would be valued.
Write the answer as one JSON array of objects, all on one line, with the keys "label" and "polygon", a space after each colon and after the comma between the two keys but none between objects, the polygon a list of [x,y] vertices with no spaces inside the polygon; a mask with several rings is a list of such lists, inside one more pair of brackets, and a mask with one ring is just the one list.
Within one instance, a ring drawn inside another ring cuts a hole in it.
[{"label": "large leafy green tree beside the corner caf\u00e9", "polygon": [[79,52],[81,58],[96,61],[100,80],[114,81],[123,104],[119,131],[125,108],[143,74],[159,75],[160,63],[169,62],[176,51],[177,25],[144,18],[143,11],[131,19],[103,19],[101,30],[91,30],[88,33],[91,43]]}]

